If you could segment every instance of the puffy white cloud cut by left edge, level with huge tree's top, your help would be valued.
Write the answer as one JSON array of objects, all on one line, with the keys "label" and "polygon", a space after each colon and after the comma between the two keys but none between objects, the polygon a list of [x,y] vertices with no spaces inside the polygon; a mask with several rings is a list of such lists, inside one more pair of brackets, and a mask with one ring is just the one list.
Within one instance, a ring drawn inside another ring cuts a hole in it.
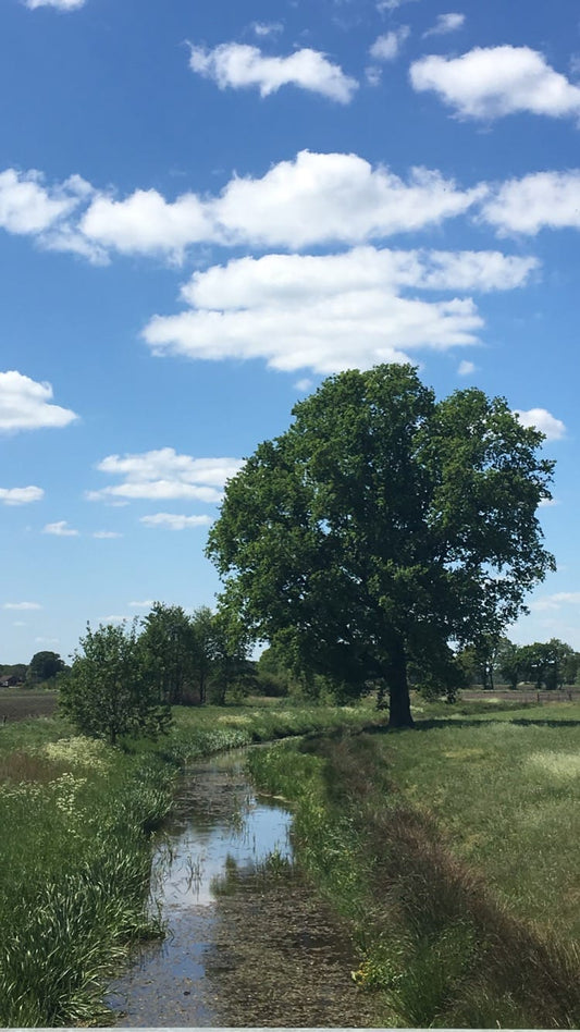
[{"label": "puffy white cloud cut by left edge, level with huge tree's top", "polygon": [[50,383],[37,383],[15,369],[0,372],[0,431],[66,427],[78,417],[52,405]]}]

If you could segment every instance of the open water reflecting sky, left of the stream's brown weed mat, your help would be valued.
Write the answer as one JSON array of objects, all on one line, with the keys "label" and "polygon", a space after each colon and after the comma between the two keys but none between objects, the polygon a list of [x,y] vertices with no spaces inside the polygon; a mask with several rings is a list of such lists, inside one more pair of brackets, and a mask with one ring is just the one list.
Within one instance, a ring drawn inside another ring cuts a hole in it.
[{"label": "open water reflecting sky, left of the stream's brown weed mat", "polygon": [[139,949],[107,1003],[120,1023],[210,1025],[218,1020],[206,979],[214,957],[215,900],[232,876],[255,872],[270,853],[292,861],[291,814],[258,800],[244,774],[244,753],[185,771],[175,807],[153,857],[151,897],[168,926],[164,942]]}]

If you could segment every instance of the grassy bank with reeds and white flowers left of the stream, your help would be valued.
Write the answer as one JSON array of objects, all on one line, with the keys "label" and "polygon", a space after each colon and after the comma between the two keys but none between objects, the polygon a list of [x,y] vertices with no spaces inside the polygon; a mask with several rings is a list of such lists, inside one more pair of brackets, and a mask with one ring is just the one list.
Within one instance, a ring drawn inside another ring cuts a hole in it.
[{"label": "grassy bank with reeds and white flowers left of the stream", "polygon": [[100,1000],[148,906],[150,837],[180,764],[284,735],[361,726],[369,709],[177,709],[158,742],[104,742],[58,717],[0,727],[0,1025],[106,1022]]}]

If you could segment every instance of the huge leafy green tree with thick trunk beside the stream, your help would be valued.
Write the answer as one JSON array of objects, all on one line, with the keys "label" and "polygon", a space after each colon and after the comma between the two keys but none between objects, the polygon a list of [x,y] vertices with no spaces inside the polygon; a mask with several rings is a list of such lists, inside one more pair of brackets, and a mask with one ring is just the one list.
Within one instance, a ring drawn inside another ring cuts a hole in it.
[{"label": "huge leafy green tree with thick trunk beside the stream", "polygon": [[445,671],[554,565],[543,434],[476,389],[436,402],[409,365],[330,377],[293,415],[226,486],[207,548],[222,601],[296,668],[388,689],[410,726],[408,664]]}]

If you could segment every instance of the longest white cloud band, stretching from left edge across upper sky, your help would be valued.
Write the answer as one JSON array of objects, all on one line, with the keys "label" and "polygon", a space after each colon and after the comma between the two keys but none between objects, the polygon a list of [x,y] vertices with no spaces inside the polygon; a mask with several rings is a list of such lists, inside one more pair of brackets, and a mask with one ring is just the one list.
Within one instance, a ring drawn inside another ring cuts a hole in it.
[{"label": "longest white cloud band, stretching from left edge across upper sky", "polygon": [[[36,181],[27,185],[40,189]],[[188,192],[168,199],[156,189],[136,189],[118,198],[85,184],[78,185],[83,209],[74,219],[57,196],[47,195],[37,214],[25,199],[17,211],[14,205],[2,209],[0,199],[0,224],[11,232],[27,226],[41,246],[92,262],[107,261],[113,249],[181,261],[189,246],[202,243],[299,249],[414,232],[466,212],[486,195],[484,185],[462,191],[436,170],[415,168],[404,180],[357,155],[305,150],[263,176],[234,175],[213,197]]]}]

